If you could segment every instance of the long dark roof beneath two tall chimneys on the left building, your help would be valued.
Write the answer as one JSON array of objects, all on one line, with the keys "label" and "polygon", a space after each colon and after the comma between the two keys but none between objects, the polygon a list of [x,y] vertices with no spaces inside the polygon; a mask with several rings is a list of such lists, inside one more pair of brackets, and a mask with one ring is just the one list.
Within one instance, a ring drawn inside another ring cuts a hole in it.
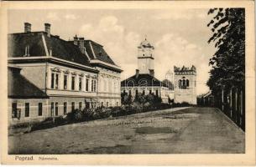
[{"label": "long dark roof beneath two tall chimneys on the left building", "polygon": [[58,36],[47,36],[45,32],[12,33],[8,35],[8,57],[24,57],[25,48],[29,45],[29,55],[33,57],[46,56],[46,48],[52,49],[52,56],[73,63],[79,63],[91,67],[86,55],[81,53],[78,46],[59,38]]}]

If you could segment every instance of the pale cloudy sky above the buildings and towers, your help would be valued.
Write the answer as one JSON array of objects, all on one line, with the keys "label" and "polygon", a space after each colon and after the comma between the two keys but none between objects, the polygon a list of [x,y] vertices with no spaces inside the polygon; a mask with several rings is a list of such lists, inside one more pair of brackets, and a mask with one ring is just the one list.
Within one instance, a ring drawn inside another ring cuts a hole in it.
[{"label": "pale cloudy sky above the buildings and towers", "polygon": [[207,40],[212,32],[206,24],[211,20],[208,9],[12,9],[8,11],[8,33],[24,32],[24,23],[32,31],[44,31],[51,24],[51,33],[65,40],[78,37],[91,39],[104,49],[123,69],[121,79],[137,68],[138,45],[144,38],[154,46],[154,73],[160,80],[177,67],[196,66],[197,94],[209,89],[209,59],[215,53]]}]

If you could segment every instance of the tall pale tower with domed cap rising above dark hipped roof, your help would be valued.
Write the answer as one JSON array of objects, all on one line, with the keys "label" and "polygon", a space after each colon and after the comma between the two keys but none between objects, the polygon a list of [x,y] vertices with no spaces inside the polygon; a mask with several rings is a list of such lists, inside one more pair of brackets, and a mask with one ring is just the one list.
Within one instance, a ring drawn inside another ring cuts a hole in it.
[{"label": "tall pale tower with domed cap rising above dark hipped roof", "polygon": [[138,46],[138,72],[154,75],[154,47],[147,38]]}]

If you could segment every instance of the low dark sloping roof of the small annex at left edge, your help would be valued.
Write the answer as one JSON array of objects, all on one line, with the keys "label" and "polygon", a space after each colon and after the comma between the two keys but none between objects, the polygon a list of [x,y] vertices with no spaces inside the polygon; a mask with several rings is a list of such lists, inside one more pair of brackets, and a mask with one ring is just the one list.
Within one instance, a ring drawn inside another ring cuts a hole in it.
[{"label": "low dark sloping roof of the small annex at left edge", "polygon": [[30,83],[20,74],[21,68],[8,67],[8,98],[45,99],[48,98],[41,89]]}]

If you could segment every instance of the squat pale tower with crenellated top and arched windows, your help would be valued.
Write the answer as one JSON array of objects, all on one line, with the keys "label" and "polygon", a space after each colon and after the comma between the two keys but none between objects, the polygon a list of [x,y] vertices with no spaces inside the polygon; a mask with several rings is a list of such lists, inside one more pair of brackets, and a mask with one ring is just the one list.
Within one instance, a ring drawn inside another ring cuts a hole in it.
[{"label": "squat pale tower with crenellated top and arched windows", "polygon": [[196,67],[174,67],[175,103],[196,104]]}]

